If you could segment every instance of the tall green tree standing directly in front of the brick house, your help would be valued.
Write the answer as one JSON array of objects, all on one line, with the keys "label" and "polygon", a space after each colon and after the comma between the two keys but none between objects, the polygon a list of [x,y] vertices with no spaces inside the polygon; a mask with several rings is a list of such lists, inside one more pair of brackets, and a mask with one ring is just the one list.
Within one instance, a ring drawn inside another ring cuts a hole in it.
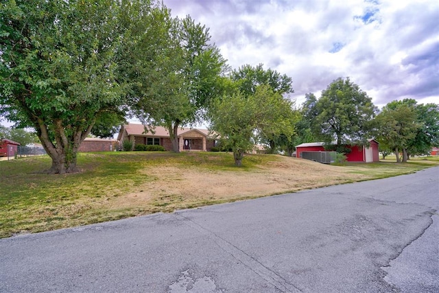
[{"label": "tall green tree standing directly in front of the brick house", "polygon": [[[169,10],[162,10],[156,17],[163,24],[147,31],[132,47],[137,56],[130,67],[132,112],[147,126],[165,126],[174,152],[179,152],[178,128],[204,117],[221,89],[226,61],[209,43],[209,30],[190,16],[173,19]],[[156,34],[158,41],[151,43],[150,34]]]}]

